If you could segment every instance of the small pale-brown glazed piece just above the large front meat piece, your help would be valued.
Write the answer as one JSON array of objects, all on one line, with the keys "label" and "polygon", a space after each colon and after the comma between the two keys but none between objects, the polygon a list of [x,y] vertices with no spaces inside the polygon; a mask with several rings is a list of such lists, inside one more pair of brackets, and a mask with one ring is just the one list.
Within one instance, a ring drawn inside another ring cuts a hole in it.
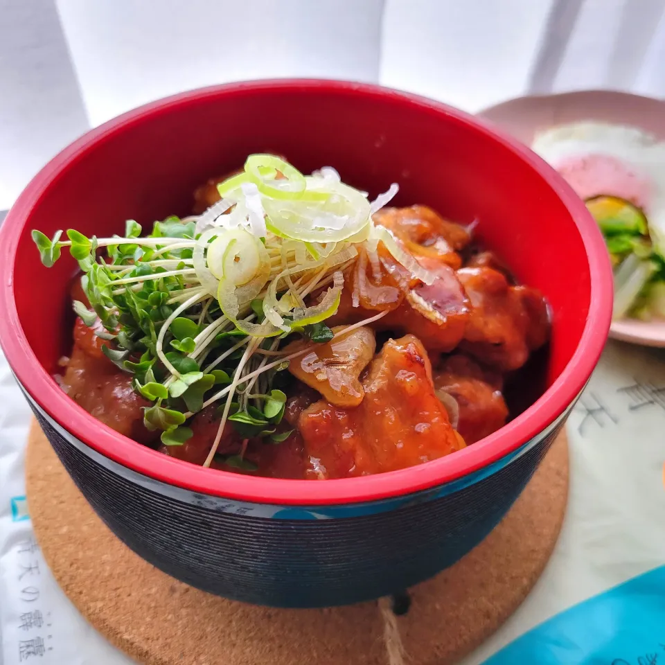
[{"label": "small pale-brown glazed piece just above the large front meat piece", "polygon": [[[335,333],[340,330],[344,330],[344,326],[332,328]],[[305,346],[311,346],[311,351],[290,362],[290,373],[319,391],[331,404],[357,407],[364,396],[358,379],[374,357],[376,348],[373,330],[361,326],[326,344],[292,342],[284,352],[288,355]]]}]

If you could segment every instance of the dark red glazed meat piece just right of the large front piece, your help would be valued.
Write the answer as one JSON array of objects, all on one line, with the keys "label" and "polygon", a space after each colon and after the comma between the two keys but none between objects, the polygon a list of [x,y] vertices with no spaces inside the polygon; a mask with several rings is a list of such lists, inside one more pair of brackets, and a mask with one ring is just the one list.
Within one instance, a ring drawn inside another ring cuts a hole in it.
[{"label": "dark red glazed meat piece just right of the large front piece", "polygon": [[434,371],[434,388],[452,396],[459,407],[457,431],[469,445],[506,424],[508,407],[502,395],[502,378],[482,369],[470,357],[447,357]]}]

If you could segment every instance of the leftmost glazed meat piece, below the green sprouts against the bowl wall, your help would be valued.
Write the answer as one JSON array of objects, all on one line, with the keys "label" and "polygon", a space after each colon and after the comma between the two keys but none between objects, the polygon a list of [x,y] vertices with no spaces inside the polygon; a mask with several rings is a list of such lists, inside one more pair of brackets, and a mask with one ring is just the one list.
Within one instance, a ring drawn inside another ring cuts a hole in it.
[{"label": "leftmost glazed meat piece, below the green sprouts against the bowl wall", "polygon": [[150,403],[132,388],[132,376],[120,371],[100,351],[101,340],[78,319],[74,348],[62,379],[64,391],[91,416],[139,443],[152,443],[159,432],[143,426]]}]

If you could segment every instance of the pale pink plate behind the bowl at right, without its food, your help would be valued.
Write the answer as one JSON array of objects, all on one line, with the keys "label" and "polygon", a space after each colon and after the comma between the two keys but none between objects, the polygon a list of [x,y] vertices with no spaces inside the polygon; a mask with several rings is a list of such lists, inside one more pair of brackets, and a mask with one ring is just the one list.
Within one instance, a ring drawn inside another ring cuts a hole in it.
[{"label": "pale pink plate behind the bowl at right, without its food", "polygon": [[[625,92],[585,90],[520,97],[485,109],[479,116],[526,145],[531,145],[540,130],[583,120],[633,125],[665,140],[665,102]],[[665,321],[614,321],[610,337],[632,344],[665,347]]]}]

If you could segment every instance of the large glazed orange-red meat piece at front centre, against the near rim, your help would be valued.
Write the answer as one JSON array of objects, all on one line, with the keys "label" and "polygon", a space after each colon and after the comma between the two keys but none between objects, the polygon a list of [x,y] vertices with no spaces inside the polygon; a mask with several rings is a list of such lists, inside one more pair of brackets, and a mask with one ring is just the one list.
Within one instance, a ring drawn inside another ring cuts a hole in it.
[{"label": "large glazed orange-red meat piece at front centre, against the near rim", "polygon": [[463,447],[434,393],[427,352],[414,335],[384,344],[362,385],[358,407],[320,400],[301,414],[308,478],[392,471]]}]

